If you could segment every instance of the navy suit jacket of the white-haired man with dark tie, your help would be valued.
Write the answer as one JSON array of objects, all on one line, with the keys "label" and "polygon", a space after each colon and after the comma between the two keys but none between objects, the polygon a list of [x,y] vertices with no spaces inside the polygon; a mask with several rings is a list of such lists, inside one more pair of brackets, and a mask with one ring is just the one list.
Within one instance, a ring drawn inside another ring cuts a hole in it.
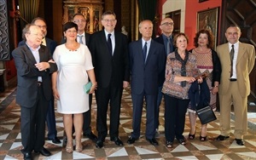
[{"label": "navy suit jacket of the white-haired man with dark tie", "polygon": [[134,94],[157,94],[160,74],[165,71],[164,45],[151,40],[146,62],[143,60],[143,42],[139,39],[129,45],[131,63],[131,92]]}]

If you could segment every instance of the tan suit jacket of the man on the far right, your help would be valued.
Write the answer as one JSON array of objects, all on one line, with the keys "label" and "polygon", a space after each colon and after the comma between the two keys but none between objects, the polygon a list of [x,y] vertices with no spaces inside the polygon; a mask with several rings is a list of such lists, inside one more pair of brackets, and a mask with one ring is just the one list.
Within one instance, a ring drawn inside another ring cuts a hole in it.
[{"label": "tan suit jacket of the man on the far right", "polygon": [[[224,43],[217,47],[218,57],[222,66],[218,94],[227,94],[230,86],[230,49],[229,44]],[[238,90],[242,97],[250,94],[249,73],[253,70],[255,61],[255,49],[253,45],[239,43],[239,50],[236,60],[236,75]]]}]

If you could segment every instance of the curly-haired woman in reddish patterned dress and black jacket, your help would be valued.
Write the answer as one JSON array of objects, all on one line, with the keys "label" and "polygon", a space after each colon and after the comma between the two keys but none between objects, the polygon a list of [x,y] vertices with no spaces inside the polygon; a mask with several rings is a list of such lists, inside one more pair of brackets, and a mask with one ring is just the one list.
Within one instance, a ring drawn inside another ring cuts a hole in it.
[{"label": "curly-haired woman in reddish patterned dress and black jacket", "polygon": [[[218,92],[218,84],[220,81],[221,66],[217,53],[212,49],[214,39],[212,32],[209,30],[201,30],[195,34],[194,45],[195,49],[190,50],[192,54],[195,54],[197,68],[202,73],[206,73],[207,84],[211,91],[210,106],[212,110],[216,110],[216,94]],[[189,122],[190,132],[189,139],[195,139],[195,123],[196,123],[195,108],[189,107]],[[200,140],[207,140],[207,124],[201,125]]]}]

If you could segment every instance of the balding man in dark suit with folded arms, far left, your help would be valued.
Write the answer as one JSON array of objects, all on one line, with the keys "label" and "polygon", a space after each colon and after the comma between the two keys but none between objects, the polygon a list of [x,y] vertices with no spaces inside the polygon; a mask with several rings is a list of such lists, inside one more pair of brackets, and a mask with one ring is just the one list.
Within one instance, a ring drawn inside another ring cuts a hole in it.
[{"label": "balding man in dark suit with folded arms, far left", "polygon": [[16,102],[20,105],[21,142],[24,159],[32,159],[32,151],[44,156],[45,118],[52,98],[51,73],[57,71],[49,49],[42,43],[43,32],[38,26],[27,25],[22,33],[26,44],[12,52],[17,69]]}]

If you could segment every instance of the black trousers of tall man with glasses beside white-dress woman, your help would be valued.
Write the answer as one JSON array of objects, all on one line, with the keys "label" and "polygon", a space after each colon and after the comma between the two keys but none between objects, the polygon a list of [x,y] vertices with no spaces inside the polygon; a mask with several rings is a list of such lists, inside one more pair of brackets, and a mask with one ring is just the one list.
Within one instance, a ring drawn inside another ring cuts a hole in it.
[{"label": "black trousers of tall man with glasses beside white-dress woman", "polygon": [[96,89],[97,119],[96,129],[98,138],[104,140],[108,134],[107,112],[110,105],[110,137],[119,136],[119,115],[123,87],[117,87],[113,82],[107,88]]}]

